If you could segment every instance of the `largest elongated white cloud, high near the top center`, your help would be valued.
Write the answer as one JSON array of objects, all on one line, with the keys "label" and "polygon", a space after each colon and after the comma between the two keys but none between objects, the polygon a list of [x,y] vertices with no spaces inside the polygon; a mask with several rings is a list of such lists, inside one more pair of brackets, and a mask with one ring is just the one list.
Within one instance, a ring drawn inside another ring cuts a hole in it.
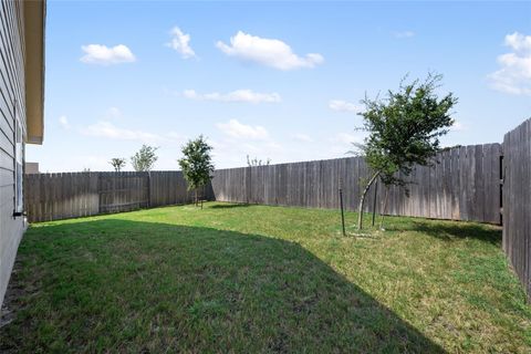
[{"label": "largest elongated white cloud, high near the top center", "polygon": [[293,53],[290,45],[280,40],[260,38],[241,31],[230,38],[230,45],[218,41],[216,46],[229,56],[279,70],[315,67],[324,62],[321,54],[309,53],[299,56]]}]

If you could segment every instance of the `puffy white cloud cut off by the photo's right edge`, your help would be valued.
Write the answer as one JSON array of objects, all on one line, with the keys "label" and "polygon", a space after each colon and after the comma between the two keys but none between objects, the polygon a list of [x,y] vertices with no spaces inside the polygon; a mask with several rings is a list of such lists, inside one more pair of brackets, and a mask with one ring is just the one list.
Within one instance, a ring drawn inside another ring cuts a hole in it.
[{"label": "puffy white cloud cut off by the photo's right edge", "polygon": [[511,53],[498,56],[501,69],[489,75],[492,88],[517,95],[531,95],[531,35],[506,35]]}]

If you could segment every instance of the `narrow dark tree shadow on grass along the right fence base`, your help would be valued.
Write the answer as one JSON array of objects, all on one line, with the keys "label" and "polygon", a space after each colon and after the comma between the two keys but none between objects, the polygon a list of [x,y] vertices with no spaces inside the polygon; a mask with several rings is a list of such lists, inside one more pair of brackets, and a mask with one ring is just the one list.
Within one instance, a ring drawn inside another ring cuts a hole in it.
[{"label": "narrow dark tree shadow on grass along the right fence base", "polygon": [[431,237],[451,241],[452,239],[473,238],[483,242],[500,246],[502,232],[501,229],[490,225],[468,223],[468,222],[447,222],[437,220],[413,220],[413,226],[397,226],[389,230],[412,230],[426,233]]}]

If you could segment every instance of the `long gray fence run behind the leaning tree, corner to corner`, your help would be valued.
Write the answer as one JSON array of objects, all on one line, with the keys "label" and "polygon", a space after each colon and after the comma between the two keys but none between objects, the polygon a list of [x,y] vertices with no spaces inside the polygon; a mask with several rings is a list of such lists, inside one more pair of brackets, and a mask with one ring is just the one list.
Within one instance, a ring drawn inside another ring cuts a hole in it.
[{"label": "long gray fence run behind the leaning tree, corner to corner", "polygon": [[[500,223],[500,144],[456,147],[437,155],[433,167],[417,166],[408,177],[409,197],[402,187],[388,191],[386,214]],[[218,169],[212,179],[216,200],[309,208],[357,209],[369,170],[361,157]],[[385,188],[365,211],[382,210]]]}]

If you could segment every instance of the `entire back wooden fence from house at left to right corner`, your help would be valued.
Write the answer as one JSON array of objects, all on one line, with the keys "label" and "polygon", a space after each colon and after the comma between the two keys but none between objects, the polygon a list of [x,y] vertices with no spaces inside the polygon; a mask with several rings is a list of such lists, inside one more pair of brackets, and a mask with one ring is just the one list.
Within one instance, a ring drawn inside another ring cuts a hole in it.
[{"label": "entire back wooden fence from house at left to right corner", "polygon": [[[368,192],[365,211],[437,219],[500,223],[499,144],[441,152],[433,167],[417,166],[409,176],[409,197],[402,187]],[[340,184],[346,209],[356,210],[369,177],[361,157],[218,169],[202,198],[309,208],[337,208]],[[27,175],[25,206],[31,222],[59,220],[192,201],[180,171],[63,173]]]}]

